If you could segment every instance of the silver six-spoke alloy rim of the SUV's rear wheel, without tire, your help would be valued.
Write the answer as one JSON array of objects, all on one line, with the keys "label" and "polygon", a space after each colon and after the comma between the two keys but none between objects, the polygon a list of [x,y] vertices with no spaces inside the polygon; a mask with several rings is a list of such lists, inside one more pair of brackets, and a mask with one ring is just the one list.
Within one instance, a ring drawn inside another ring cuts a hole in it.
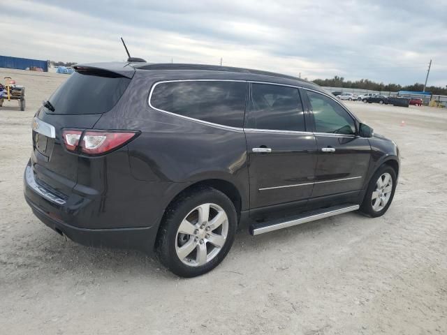
[{"label": "silver six-spoke alloy rim of the SUV's rear wheel, without tire", "polygon": [[228,235],[228,216],[218,204],[200,204],[185,216],[175,237],[177,257],[200,267],[219,254]]}]

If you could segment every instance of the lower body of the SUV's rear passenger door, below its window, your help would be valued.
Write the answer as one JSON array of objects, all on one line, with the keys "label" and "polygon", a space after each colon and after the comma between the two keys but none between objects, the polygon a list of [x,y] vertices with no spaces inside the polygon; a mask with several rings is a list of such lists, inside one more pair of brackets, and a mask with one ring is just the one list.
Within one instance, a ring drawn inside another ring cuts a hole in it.
[{"label": "lower body of the SUV's rear passenger door, below its window", "polygon": [[[251,208],[307,200],[312,195],[316,141],[312,133],[246,130]],[[267,147],[270,153],[252,149]]]}]

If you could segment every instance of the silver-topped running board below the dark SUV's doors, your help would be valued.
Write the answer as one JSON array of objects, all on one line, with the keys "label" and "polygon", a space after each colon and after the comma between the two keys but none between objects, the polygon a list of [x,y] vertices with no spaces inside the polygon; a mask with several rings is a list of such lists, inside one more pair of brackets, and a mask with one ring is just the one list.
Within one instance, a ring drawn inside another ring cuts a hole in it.
[{"label": "silver-topped running board below the dark SUV's doors", "polygon": [[328,218],[330,216],[344,214],[349,211],[356,211],[359,208],[360,206],[358,204],[349,204],[349,205],[345,204],[343,206],[334,206],[325,209],[318,209],[317,211],[309,211],[300,216],[295,216],[293,218],[286,218],[286,221],[282,219],[263,223],[255,223],[250,225],[250,234],[258,235],[263,234],[264,232],[272,232],[274,230],[292,227],[293,225],[300,225],[302,223],[316,221],[321,218]]}]

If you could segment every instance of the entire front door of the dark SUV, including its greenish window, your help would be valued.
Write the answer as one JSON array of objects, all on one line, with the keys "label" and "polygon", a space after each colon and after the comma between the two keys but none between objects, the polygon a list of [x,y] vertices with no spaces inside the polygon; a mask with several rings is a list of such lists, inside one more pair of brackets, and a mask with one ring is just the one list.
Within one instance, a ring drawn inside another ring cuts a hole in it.
[{"label": "entire front door of the dark SUV, including its greenish window", "polygon": [[369,140],[357,135],[356,120],[334,98],[306,91],[318,154],[312,198],[359,191],[365,182],[371,147]]}]

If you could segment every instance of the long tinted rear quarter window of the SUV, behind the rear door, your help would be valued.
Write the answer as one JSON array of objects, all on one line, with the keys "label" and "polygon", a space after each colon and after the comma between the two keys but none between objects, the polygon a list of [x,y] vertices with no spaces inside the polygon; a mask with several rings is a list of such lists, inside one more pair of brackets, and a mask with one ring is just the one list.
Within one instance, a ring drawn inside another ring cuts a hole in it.
[{"label": "long tinted rear quarter window of the SUV, behind the rear door", "polygon": [[242,128],[245,82],[162,82],[152,92],[151,105],[159,110],[214,124]]}]

